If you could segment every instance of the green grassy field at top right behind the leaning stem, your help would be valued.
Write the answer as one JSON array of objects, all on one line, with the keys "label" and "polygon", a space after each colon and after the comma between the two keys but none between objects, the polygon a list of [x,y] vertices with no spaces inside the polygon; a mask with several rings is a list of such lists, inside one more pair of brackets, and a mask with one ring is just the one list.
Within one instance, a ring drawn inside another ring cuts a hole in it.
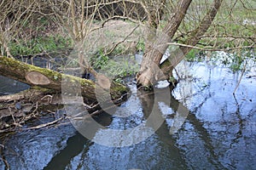
[{"label": "green grassy field at top right behind the leaning stem", "polygon": [[[174,37],[179,43],[185,43],[188,37],[195,37],[194,30],[198,27],[200,20],[191,19],[192,16],[203,16],[207,12],[207,5],[200,1],[192,2],[194,8],[201,8],[200,11],[189,10],[189,14],[179,31],[188,32],[183,36],[177,34]],[[242,46],[252,46],[255,42],[255,1],[245,0],[236,1],[236,3],[224,2],[219,9],[212,26],[209,27],[206,34],[201,37],[196,45],[200,48],[214,47],[216,49],[237,48]],[[205,9],[205,10],[204,10]]]}]

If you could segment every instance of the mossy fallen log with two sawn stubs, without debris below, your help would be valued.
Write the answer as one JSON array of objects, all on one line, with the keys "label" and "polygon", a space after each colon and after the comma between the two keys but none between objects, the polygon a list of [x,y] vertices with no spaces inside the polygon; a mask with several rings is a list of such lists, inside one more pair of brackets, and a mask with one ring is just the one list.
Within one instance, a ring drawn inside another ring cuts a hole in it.
[{"label": "mossy fallen log with two sawn stubs, without debris below", "polygon": [[[56,71],[40,68],[34,65],[28,65],[16,59],[0,56],[0,75],[13,78],[19,82],[24,82],[30,86],[38,86],[40,88],[52,89],[54,93],[61,93],[61,89],[65,88],[65,93],[74,94],[75,91],[80,92],[82,97],[96,101],[96,96],[110,95],[111,98],[119,99],[128,92],[128,89],[117,83],[110,83],[107,77],[103,75],[97,76],[97,82],[87,79],[73,77],[61,74]],[[65,86],[65,87],[61,87]],[[110,88],[110,94],[108,88]],[[63,91],[62,91],[63,93]],[[106,99],[108,99],[106,97]]]}]

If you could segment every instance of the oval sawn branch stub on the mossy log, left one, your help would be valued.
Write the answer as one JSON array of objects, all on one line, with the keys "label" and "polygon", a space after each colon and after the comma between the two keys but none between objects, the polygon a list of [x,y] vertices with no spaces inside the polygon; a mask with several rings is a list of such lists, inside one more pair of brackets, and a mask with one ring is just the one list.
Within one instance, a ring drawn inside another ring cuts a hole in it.
[{"label": "oval sawn branch stub on the mossy log, left one", "polygon": [[28,72],[26,74],[26,81],[34,85],[48,85],[50,83],[48,77],[45,77],[42,73],[37,71]]}]

